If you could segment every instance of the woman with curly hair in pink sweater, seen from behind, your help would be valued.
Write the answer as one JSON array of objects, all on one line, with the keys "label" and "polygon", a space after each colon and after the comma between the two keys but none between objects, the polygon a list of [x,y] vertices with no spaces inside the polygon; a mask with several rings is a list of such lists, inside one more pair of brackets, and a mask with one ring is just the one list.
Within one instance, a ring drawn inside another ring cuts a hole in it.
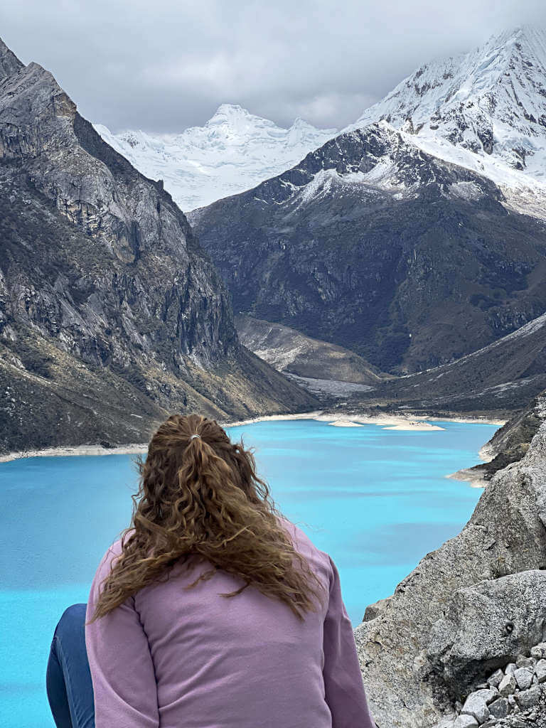
[{"label": "woman with curly hair in pink sweater, seen from behind", "polygon": [[336,566],[253,454],[173,415],[138,465],[130,528],[55,630],[57,726],[373,728]]}]

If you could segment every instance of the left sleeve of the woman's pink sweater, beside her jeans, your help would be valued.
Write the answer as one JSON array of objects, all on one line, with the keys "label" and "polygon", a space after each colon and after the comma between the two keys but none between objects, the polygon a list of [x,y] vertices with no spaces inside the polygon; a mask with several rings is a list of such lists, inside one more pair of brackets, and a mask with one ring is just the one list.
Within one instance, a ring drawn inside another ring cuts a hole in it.
[{"label": "left sleeve of the woman's pink sweater, beside her jeans", "polygon": [[[92,618],[111,561],[119,555],[114,547],[104,555],[93,579],[86,622]],[[95,728],[159,728],[154,665],[134,598],[127,598],[112,612],[86,624],[85,644],[95,700]]]}]

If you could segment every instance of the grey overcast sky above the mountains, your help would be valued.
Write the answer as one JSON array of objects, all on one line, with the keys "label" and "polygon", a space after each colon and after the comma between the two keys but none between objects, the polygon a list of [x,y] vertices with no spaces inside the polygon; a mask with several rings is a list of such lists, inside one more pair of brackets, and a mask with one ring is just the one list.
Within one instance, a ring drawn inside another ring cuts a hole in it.
[{"label": "grey overcast sky above the mountains", "polygon": [[545,0],[1,0],[0,36],[92,122],[180,132],[221,103],[344,127],[415,68],[472,50]]}]

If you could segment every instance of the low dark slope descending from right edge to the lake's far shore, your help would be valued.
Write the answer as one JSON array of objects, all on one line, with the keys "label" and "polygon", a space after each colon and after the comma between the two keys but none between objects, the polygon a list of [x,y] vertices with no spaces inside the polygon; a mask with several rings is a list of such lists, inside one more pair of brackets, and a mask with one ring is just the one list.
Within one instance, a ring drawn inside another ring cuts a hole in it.
[{"label": "low dark slope descending from right edge to the lake's far shore", "polygon": [[[360,405],[388,401],[422,414],[488,412],[502,417],[521,411],[545,389],[545,364],[546,314],[542,314],[454,362],[379,382],[360,395]],[[503,448],[507,445],[503,443]]]}]

